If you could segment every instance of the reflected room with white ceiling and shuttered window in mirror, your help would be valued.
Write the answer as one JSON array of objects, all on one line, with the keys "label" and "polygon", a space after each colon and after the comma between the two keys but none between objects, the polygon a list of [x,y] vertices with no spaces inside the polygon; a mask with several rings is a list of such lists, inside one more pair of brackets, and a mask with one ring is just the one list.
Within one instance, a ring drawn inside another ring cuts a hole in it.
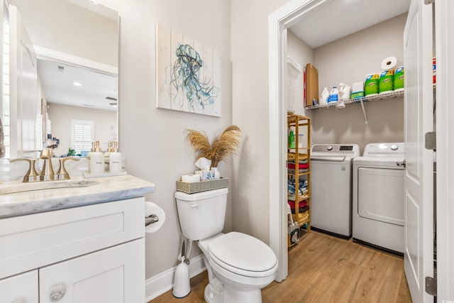
[{"label": "reflected room with white ceiling and shuttered window in mirror", "polygon": [[93,141],[117,141],[116,75],[38,57],[38,78],[54,155],[70,148],[80,155]]}]

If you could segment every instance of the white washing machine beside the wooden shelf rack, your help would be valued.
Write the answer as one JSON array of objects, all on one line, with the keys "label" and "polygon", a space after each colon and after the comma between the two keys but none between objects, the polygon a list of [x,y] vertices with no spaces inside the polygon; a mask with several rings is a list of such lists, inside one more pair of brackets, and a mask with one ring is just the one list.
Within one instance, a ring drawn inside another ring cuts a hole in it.
[{"label": "white washing machine beside the wooden shelf rack", "polygon": [[356,144],[311,147],[311,228],[343,238],[352,235],[352,161]]}]

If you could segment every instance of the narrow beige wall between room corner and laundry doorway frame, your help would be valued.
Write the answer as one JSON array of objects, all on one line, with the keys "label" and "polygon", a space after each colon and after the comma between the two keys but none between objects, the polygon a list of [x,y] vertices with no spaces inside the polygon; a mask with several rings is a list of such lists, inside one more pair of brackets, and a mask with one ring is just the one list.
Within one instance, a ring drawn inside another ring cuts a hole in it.
[{"label": "narrow beige wall between room corner and laundry doorway frame", "polygon": [[233,123],[243,130],[235,160],[233,229],[269,243],[268,16],[286,0],[231,0]]}]

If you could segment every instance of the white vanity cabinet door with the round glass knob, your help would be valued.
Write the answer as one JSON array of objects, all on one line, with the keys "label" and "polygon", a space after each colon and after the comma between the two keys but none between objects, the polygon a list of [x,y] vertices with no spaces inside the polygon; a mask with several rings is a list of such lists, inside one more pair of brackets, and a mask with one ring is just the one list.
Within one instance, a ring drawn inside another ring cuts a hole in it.
[{"label": "white vanity cabinet door with the round glass knob", "polygon": [[144,241],[40,268],[40,302],[145,302]]}]

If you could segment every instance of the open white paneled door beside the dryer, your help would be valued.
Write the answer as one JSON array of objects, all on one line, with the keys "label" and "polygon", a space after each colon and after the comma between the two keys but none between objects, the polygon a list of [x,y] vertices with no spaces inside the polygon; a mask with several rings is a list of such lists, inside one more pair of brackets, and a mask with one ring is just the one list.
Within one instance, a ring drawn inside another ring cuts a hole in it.
[{"label": "open white paneled door beside the dryer", "polygon": [[404,30],[405,58],[405,248],[404,268],[414,303],[433,302],[425,277],[433,277],[432,6],[412,0]]}]

